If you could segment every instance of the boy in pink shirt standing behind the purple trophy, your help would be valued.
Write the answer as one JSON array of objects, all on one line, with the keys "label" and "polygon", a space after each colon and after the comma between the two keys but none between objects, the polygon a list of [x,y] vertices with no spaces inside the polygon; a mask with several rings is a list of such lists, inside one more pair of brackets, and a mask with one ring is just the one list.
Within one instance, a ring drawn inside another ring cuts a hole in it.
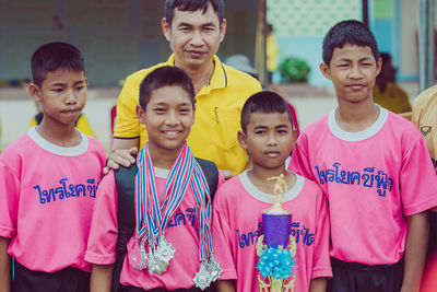
[{"label": "boy in pink shirt standing behind the purple trophy", "polygon": [[274,188],[267,179],[282,174],[288,189],[282,206],[293,214],[291,234],[297,245],[294,291],[324,291],[332,276],[328,206],[317,184],[285,170],[295,141],[287,104],[273,92],[253,94],[243,107],[241,129],[238,141],[253,167],[223,184],[213,206],[214,250],[223,268],[218,291],[259,291],[256,244]]}]

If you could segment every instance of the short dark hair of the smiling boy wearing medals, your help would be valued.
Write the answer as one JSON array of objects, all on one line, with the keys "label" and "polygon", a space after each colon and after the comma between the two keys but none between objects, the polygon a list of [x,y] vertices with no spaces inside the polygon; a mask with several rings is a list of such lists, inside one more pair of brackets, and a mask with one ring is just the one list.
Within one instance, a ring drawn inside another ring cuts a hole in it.
[{"label": "short dark hair of the smiling boy wearing medals", "polygon": [[153,70],[141,81],[139,103],[144,110],[152,93],[164,86],[180,86],[190,96],[194,108],[196,93],[190,77],[180,68],[164,66]]}]

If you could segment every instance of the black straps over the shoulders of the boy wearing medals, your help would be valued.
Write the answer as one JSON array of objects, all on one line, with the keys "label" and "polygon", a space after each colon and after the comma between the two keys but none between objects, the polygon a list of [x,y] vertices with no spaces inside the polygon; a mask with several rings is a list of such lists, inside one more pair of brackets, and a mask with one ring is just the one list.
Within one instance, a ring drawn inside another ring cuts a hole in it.
[{"label": "black straps over the shoulders of the boy wearing medals", "polygon": [[[218,170],[211,161],[196,159],[210,187],[211,202],[218,184]],[[130,167],[120,166],[114,172],[117,185],[117,203],[118,203],[118,237],[117,237],[117,257],[113,270],[111,292],[117,292],[120,285],[120,273],[125,256],[127,253],[127,243],[132,237],[135,230],[135,175],[138,172],[137,164]]]}]

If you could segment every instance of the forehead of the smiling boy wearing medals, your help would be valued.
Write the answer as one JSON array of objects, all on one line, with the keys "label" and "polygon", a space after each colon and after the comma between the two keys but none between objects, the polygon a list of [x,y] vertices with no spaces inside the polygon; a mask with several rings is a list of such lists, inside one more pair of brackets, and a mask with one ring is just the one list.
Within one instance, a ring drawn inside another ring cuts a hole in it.
[{"label": "forehead of the smiling boy wearing medals", "polygon": [[163,86],[152,91],[149,104],[189,104],[192,105],[189,93],[181,86]]}]

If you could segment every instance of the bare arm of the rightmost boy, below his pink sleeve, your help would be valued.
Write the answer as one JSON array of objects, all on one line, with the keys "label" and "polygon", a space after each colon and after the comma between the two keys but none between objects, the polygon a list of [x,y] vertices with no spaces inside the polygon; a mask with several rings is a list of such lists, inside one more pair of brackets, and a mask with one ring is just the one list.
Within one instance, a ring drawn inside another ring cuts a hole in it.
[{"label": "bare arm of the rightmost boy, below his pink sleeve", "polygon": [[429,236],[427,211],[409,217],[408,225],[405,266],[401,292],[418,291],[421,287]]}]

